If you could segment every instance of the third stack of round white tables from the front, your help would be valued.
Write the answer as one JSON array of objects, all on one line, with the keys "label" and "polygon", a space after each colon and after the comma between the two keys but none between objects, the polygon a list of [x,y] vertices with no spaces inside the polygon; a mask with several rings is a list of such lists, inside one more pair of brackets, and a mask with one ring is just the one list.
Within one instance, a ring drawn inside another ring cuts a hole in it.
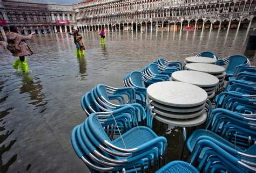
[{"label": "third stack of round white tables from the front", "polygon": [[217,66],[215,64],[189,63],[189,64],[186,64],[185,68],[187,70],[201,71],[204,73],[211,74],[219,79],[219,84],[223,83],[226,76],[225,68],[221,66]]}]

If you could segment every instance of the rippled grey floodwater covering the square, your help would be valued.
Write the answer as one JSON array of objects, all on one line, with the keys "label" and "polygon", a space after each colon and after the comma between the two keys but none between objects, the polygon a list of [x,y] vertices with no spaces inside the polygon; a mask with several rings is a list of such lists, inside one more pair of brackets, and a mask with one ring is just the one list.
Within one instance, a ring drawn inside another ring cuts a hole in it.
[{"label": "rippled grey floodwater covering the square", "polygon": [[28,57],[26,75],[15,72],[15,58],[1,47],[0,172],[89,171],[70,143],[71,129],[86,118],[79,101],[87,91],[99,83],[122,87],[126,74],[158,57],[184,61],[202,51],[220,58],[247,54],[252,33],[107,32],[105,46],[97,32],[82,33],[85,57],[76,57],[69,34],[35,35],[27,41],[35,54]]}]

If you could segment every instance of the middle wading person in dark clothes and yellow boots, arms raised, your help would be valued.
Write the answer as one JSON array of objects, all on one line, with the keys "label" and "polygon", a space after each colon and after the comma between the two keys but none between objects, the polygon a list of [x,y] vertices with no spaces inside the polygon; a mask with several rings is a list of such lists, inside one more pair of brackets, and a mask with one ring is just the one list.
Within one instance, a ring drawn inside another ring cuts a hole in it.
[{"label": "middle wading person in dark clothes and yellow boots, arms raised", "polygon": [[75,42],[75,45],[77,47],[76,49],[76,55],[77,56],[84,56],[84,44],[83,44],[83,41],[82,41],[82,35],[78,34],[78,29],[77,27],[73,27],[72,28],[72,33],[69,32],[70,35],[73,35],[74,37],[74,42]]}]

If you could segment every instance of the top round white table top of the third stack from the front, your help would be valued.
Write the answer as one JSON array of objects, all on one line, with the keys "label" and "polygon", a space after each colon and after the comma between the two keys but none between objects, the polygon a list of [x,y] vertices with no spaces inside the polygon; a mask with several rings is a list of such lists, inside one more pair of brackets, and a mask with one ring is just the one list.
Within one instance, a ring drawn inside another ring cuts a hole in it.
[{"label": "top round white table top of the third stack from the front", "polygon": [[188,70],[201,71],[208,74],[220,74],[225,71],[224,67],[206,63],[188,63],[185,67]]}]

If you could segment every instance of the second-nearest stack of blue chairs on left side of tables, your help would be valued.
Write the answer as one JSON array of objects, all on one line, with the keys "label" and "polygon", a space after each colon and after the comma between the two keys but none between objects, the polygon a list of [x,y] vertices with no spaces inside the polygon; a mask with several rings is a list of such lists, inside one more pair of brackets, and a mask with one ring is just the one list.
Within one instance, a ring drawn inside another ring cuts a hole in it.
[{"label": "second-nearest stack of blue chairs on left side of tables", "polygon": [[136,120],[141,125],[146,125],[147,117],[150,116],[147,106],[144,108],[136,103],[136,91],[131,87],[113,88],[98,84],[80,99],[80,104],[87,116],[96,112],[112,112],[127,105],[132,112],[136,113]]}]

